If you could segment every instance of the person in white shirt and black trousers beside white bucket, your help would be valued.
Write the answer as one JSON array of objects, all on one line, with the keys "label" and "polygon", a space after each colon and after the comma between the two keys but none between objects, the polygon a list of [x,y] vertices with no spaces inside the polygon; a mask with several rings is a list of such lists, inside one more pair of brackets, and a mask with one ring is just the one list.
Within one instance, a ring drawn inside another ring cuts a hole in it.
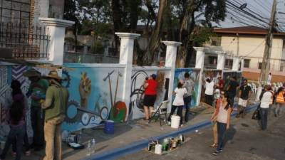
[{"label": "person in white shirt and black trousers beside white bucket", "polygon": [[172,114],[175,112],[177,108],[177,114],[180,117],[180,126],[182,125],[182,116],[183,116],[182,115],[182,110],[184,106],[183,96],[187,94],[186,88],[182,86],[183,86],[183,82],[178,82],[178,85],[174,90],[175,99],[172,102],[171,112],[167,119],[168,122],[170,122],[170,117],[172,116]]}]

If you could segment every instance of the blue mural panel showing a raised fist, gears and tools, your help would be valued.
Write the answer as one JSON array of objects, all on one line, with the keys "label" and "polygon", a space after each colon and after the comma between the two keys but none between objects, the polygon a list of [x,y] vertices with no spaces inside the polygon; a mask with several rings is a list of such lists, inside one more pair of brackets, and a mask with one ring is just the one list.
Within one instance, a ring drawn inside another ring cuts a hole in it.
[{"label": "blue mural panel showing a raised fist, gears and tools", "polygon": [[70,92],[64,130],[95,127],[106,119],[125,122],[128,109],[118,94],[123,90],[119,85],[123,68],[67,67],[73,70],[63,70],[62,75]]}]

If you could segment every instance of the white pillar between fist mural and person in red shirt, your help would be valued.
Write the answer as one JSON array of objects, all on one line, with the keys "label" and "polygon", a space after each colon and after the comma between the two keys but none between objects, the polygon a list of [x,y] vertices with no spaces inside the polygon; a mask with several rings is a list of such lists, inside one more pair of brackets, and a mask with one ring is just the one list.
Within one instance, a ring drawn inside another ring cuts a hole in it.
[{"label": "white pillar between fist mural and person in red shirt", "polygon": [[[115,33],[120,38],[120,61],[119,63],[125,65],[125,75],[123,75],[123,95],[122,101],[128,106],[130,103],[131,81],[132,81],[132,67],[133,67],[133,48],[134,41],[140,37],[140,34],[135,33]],[[127,114],[128,116],[128,114]],[[128,117],[126,117],[128,119]]]}]

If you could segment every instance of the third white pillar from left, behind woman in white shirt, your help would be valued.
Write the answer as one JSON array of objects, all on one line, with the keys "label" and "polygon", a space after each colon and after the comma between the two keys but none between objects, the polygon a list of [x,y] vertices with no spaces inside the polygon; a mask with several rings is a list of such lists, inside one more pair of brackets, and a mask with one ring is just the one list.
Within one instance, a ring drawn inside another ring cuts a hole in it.
[{"label": "third white pillar from left, behind woman in white shirt", "polygon": [[175,61],[177,55],[177,47],[179,47],[182,43],[175,42],[175,41],[162,41],[162,43],[166,46],[166,55],[165,55],[165,67],[171,68],[170,70],[170,82],[168,88],[168,100],[170,102],[167,106],[167,111],[171,110],[171,100],[172,100],[172,90],[173,90],[173,83],[174,83],[174,76],[175,76]]}]

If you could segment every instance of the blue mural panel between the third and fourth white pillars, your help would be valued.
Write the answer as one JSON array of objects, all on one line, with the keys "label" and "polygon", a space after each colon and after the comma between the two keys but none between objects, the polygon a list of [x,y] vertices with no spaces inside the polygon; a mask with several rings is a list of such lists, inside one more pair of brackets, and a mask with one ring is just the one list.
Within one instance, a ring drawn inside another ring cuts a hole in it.
[{"label": "blue mural panel between the third and fourth white pillars", "polygon": [[[177,69],[175,69],[173,90],[175,90],[175,87],[177,87],[179,80],[185,80],[185,78],[184,78],[185,73],[189,73],[190,79],[195,83],[195,85],[193,87],[193,91],[192,91],[192,100],[191,100],[191,105],[190,105],[190,107],[194,107],[194,106],[197,106],[200,70],[192,69],[192,68],[177,68]],[[174,97],[172,97],[172,100],[174,100]]]}]

